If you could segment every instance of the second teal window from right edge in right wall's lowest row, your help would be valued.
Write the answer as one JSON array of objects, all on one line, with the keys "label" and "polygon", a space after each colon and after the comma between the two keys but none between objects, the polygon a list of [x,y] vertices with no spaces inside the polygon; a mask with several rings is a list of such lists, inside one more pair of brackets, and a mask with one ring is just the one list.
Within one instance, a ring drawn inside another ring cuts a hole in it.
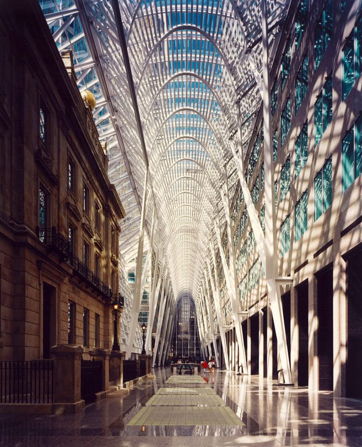
[{"label": "second teal window from right edge in right wall's lowest row", "polygon": [[314,220],[319,219],[332,205],[332,157],[314,178]]}]

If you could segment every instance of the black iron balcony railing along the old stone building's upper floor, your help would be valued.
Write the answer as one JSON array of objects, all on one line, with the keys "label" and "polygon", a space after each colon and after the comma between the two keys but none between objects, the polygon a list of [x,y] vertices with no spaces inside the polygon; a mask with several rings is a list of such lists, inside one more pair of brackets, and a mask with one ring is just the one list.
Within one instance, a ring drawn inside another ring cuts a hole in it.
[{"label": "black iron balcony railing along the old stone building's upper floor", "polygon": [[102,281],[79,257],[73,255],[69,241],[60,234],[55,226],[52,228],[36,227],[36,236],[44,242],[50,249],[57,252],[66,260],[76,274],[85,279],[90,285],[95,287],[106,298],[115,301],[119,300],[121,307],[124,306],[124,297],[121,293],[113,293],[112,289]]}]

